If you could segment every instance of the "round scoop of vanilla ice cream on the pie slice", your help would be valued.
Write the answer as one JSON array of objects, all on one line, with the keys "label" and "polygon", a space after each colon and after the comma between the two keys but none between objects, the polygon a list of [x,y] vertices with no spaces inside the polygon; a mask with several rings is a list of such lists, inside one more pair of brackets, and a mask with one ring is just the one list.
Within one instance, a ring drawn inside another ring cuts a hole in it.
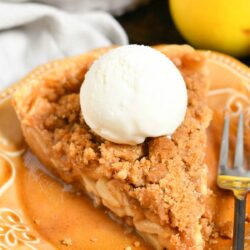
[{"label": "round scoop of vanilla ice cream on the pie slice", "polygon": [[162,53],[142,45],[115,48],[96,60],[80,91],[88,126],[115,143],[171,135],[187,109],[186,84]]}]

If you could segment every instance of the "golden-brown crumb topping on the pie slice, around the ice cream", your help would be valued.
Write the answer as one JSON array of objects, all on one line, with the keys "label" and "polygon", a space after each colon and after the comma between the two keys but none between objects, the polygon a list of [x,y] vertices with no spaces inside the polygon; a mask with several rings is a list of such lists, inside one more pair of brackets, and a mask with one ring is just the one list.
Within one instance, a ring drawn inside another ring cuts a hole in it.
[{"label": "golden-brown crumb topping on the pie slice, around the ice cream", "polygon": [[[192,235],[194,225],[205,213],[204,154],[211,119],[206,103],[208,77],[201,53],[189,47],[184,52],[161,51],[181,71],[189,97],[185,120],[171,138],[148,138],[130,146],[104,140],[91,131],[81,114],[79,89],[96,57],[85,57],[87,63],[79,63],[71,71],[65,69],[68,77],[64,79],[56,77],[56,72],[52,79],[44,79],[37,87],[36,99],[27,103],[25,119],[42,131],[53,156],[63,162],[60,172],[71,173],[72,182],[81,173],[95,179],[105,176],[120,180],[128,195],[158,215],[162,225],[170,224]],[[179,241],[179,237],[172,241]]]}]

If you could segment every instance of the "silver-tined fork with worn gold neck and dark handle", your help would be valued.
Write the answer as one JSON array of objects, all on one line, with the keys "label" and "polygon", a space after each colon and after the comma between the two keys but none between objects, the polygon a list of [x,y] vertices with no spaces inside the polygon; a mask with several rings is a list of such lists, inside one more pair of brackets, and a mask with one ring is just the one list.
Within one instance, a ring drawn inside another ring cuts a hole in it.
[{"label": "silver-tined fork with worn gold neck and dark handle", "polygon": [[224,129],[221,141],[217,184],[220,188],[233,191],[234,207],[234,234],[233,249],[243,250],[245,239],[245,212],[246,194],[250,190],[250,171],[244,168],[244,122],[243,112],[240,113],[237,131],[237,142],[233,168],[228,166],[229,152],[229,115],[224,118]]}]

